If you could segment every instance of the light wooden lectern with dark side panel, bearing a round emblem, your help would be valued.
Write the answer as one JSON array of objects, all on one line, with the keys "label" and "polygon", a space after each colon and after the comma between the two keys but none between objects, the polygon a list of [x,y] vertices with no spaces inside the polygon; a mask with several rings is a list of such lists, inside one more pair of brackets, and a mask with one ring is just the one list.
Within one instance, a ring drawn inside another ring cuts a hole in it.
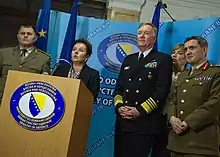
[{"label": "light wooden lectern with dark side panel, bearing a round emblem", "polygon": [[[62,119],[50,129],[28,130],[11,114],[12,94],[32,81],[52,85],[65,102]],[[84,157],[92,105],[93,96],[80,80],[10,70],[0,107],[0,156]]]}]

